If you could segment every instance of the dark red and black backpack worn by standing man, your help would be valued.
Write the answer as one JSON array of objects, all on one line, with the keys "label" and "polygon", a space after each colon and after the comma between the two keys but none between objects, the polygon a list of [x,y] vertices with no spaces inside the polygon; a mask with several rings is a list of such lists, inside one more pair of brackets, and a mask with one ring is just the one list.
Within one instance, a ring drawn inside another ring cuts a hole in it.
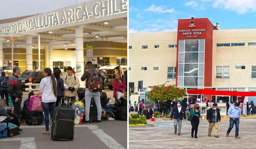
[{"label": "dark red and black backpack worn by standing man", "polygon": [[98,92],[102,89],[101,78],[98,76],[98,70],[94,73],[89,69],[86,70],[88,73],[91,74],[88,80],[88,89],[92,92]]}]

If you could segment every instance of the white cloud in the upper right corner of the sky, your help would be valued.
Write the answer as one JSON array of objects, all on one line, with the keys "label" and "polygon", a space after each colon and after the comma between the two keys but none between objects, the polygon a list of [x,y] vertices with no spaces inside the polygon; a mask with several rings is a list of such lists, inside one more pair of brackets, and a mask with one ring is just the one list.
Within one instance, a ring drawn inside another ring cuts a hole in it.
[{"label": "white cloud in the upper right corner of the sky", "polygon": [[238,14],[246,14],[248,12],[256,12],[256,0],[202,0],[212,5],[213,8],[221,8],[236,12]]}]

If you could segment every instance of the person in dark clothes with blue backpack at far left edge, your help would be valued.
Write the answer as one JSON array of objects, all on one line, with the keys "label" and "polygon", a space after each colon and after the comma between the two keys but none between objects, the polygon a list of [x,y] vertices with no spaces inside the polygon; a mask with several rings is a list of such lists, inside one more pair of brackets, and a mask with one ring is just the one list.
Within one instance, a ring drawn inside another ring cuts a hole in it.
[{"label": "person in dark clothes with blue backpack at far left edge", "polygon": [[[9,77],[8,77],[8,76],[5,76],[5,72],[2,71],[2,72],[1,72],[1,76],[0,76],[0,84],[2,84],[2,82],[5,81],[5,80],[9,80]],[[6,84],[7,84],[7,83],[6,83]],[[5,86],[5,84],[0,85],[0,95],[1,95],[1,98],[4,98],[4,96],[5,96],[5,99],[6,99],[6,106],[9,106],[8,87],[9,87],[9,84],[7,84],[7,86]]]}]

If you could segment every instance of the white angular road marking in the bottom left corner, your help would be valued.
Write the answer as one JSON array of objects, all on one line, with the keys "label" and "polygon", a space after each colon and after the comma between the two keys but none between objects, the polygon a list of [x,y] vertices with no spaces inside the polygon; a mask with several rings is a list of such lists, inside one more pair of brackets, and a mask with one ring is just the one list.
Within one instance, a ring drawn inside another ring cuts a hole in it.
[{"label": "white angular road marking in the bottom left corner", "polygon": [[0,141],[20,141],[19,149],[37,149],[34,137],[2,138]]}]

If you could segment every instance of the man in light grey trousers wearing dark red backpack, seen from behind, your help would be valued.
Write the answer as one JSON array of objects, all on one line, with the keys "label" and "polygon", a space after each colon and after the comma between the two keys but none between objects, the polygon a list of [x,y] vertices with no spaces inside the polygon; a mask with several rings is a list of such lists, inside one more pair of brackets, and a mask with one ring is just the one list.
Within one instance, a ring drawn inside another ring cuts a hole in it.
[{"label": "man in light grey trousers wearing dark red backpack, seen from behind", "polygon": [[96,91],[96,92],[92,92],[91,90],[89,90],[89,79],[90,76],[92,75],[92,73],[97,74],[98,77],[101,77],[100,72],[96,69],[94,69],[92,62],[88,61],[86,62],[86,71],[84,71],[83,76],[81,77],[81,80],[84,81],[86,80],[86,88],[85,88],[85,120],[86,120],[86,124],[90,124],[89,121],[89,114],[90,114],[90,104],[91,104],[91,100],[92,100],[92,96],[95,100],[95,104],[97,107],[97,119],[98,119],[98,123],[101,122],[101,104],[100,104],[100,94],[102,92],[102,90]]}]

